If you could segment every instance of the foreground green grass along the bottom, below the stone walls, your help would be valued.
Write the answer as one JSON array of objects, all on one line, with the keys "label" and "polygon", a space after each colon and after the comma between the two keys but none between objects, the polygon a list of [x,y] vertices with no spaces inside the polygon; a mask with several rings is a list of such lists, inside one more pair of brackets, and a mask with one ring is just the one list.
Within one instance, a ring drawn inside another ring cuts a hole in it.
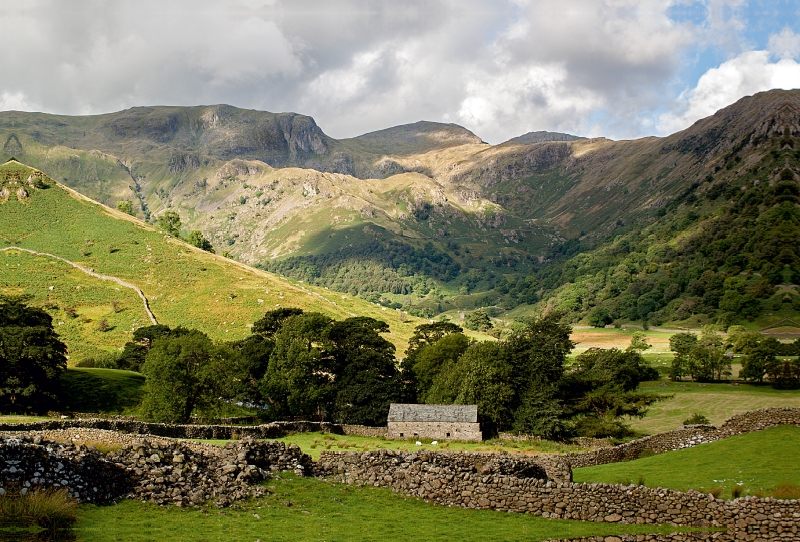
[{"label": "foreground green grass along the bottom, below the stone walls", "polygon": [[144,542],[253,540],[516,541],[673,532],[672,526],[551,520],[491,510],[433,506],[385,488],[348,487],[281,474],[270,494],[244,505],[181,509],[138,501],[82,506],[81,540]]}]

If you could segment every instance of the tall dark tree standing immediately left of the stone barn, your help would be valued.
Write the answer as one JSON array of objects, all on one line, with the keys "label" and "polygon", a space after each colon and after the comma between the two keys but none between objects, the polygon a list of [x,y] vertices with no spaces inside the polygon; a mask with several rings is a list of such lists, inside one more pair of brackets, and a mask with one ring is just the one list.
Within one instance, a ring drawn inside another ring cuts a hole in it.
[{"label": "tall dark tree standing immediately left of the stone barn", "polygon": [[334,419],[384,425],[389,404],[405,400],[394,345],[381,336],[388,331],[386,322],[363,316],[331,326],[328,342],[336,373]]}]

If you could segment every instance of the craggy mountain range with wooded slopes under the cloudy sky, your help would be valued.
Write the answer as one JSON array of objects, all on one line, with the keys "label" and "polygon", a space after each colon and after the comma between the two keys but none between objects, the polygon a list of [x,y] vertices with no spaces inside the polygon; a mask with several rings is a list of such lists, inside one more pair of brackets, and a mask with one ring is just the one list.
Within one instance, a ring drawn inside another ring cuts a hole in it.
[{"label": "craggy mountain range with wooded slopes under the cloudy sky", "polygon": [[248,265],[425,317],[689,327],[797,318],[799,134],[781,90],[663,138],[500,145],[434,122],[336,140],[225,105],[0,113],[7,159],[151,222],[177,211]]}]

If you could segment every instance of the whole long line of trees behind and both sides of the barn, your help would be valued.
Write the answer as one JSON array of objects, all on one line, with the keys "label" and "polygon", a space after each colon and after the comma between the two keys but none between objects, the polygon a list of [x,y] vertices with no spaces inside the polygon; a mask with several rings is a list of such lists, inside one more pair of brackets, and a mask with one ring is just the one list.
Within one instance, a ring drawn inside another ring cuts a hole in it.
[{"label": "whole long line of trees behind and both sides of the barn", "polygon": [[228,343],[196,330],[140,328],[118,363],[147,377],[142,413],[155,421],[214,415],[235,403],[267,419],[383,425],[390,403],[421,402],[477,404],[488,434],[628,434],[622,418],[644,415],[659,399],[636,389],[658,378],[641,356],[648,345],[591,349],[569,366],[575,344],[560,316],[531,320],[495,342],[476,342],[450,322],[422,324],[398,363],[381,336],[385,322],[281,308]]}]

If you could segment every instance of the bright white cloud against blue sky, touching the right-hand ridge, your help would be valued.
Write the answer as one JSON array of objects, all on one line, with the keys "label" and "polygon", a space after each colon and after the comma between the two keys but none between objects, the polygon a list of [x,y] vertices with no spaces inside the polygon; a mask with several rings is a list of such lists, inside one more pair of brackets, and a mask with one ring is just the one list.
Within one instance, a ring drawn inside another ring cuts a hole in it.
[{"label": "bright white cloud against blue sky, touching the right-hand ridge", "polygon": [[[748,51],[704,73],[679,98],[680,113],[660,117],[659,131],[669,134],[713,115],[736,100],[773,88],[800,88],[800,36],[784,28],[769,39],[769,51]],[[779,60],[774,60],[774,58]]]}]

